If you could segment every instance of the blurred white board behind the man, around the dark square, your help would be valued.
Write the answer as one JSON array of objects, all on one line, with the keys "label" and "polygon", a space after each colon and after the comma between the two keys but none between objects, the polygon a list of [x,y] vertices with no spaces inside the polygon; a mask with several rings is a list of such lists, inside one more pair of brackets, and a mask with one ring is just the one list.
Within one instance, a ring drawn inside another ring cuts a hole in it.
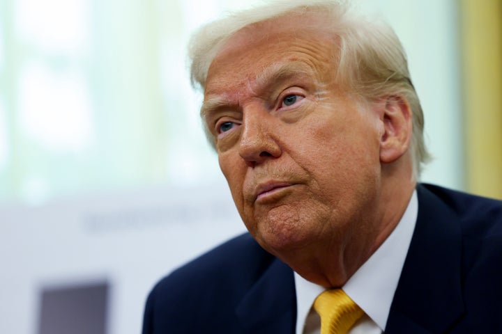
[{"label": "blurred white board behind the man, around the dark square", "polygon": [[109,334],[139,333],[146,294],[244,230],[225,184],[0,209],[0,333],[36,333],[43,287],[108,280]]}]

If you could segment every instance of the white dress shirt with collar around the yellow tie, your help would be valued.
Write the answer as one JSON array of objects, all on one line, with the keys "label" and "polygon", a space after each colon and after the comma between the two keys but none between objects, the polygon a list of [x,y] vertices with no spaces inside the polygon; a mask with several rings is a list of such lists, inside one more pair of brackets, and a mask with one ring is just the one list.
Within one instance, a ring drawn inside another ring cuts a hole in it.
[{"label": "white dress shirt with collar around the yellow tie", "polygon": [[[381,334],[385,331],[417,214],[418,199],[416,191],[413,191],[408,207],[393,232],[342,287],[365,312],[348,334]],[[312,308],[312,303],[325,288],[305,280],[296,272],[294,279],[296,334],[319,334],[321,319]]]}]

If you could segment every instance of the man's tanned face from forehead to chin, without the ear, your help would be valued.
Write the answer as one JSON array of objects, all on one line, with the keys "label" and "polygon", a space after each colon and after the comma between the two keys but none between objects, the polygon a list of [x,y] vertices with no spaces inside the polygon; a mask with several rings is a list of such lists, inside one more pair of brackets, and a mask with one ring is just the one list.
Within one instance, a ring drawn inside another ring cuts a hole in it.
[{"label": "man's tanned face from forehead to chin, without the ear", "polygon": [[203,115],[259,244],[286,262],[325,248],[342,260],[372,234],[383,129],[371,104],[337,86],[335,38],[296,23],[231,37],[208,71]]}]

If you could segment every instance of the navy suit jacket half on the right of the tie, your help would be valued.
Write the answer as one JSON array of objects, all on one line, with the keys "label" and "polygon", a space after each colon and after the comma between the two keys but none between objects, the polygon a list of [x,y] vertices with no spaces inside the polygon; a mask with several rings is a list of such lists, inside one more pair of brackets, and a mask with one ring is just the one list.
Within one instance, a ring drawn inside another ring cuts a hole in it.
[{"label": "navy suit jacket half on the right of the tie", "polygon": [[502,333],[502,202],[419,185],[386,333]]}]

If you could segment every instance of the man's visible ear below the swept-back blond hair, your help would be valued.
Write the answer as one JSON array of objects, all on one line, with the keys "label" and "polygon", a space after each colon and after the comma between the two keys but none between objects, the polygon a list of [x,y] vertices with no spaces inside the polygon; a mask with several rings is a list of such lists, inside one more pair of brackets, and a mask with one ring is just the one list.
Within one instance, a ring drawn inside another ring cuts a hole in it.
[{"label": "man's visible ear below the swept-back blond hair", "polygon": [[381,101],[383,134],[380,138],[380,161],[390,164],[409,148],[411,142],[411,108],[400,95],[390,95]]}]

